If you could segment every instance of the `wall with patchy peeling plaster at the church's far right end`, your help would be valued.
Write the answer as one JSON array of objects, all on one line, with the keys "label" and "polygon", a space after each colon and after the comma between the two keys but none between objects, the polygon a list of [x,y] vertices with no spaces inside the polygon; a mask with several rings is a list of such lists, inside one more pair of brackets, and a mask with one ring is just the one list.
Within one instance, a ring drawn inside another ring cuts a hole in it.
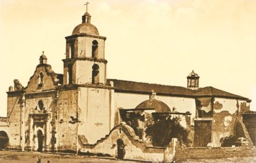
[{"label": "wall with patchy peeling plaster at the church's far right end", "polygon": [[234,136],[234,123],[241,103],[236,99],[215,98],[213,103],[212,145],[220,147],[221,137]]}]

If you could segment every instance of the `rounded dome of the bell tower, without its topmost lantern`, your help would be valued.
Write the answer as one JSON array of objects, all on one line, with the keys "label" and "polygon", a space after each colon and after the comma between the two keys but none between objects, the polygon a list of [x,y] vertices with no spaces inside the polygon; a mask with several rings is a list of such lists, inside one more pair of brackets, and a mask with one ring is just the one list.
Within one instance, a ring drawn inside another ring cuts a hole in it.
[{"label": "rounded dome of the bell tower, without its topmost lantern", "polygon": [[82,23],[76,26],[72,32],[72,35],[79,35],[79,34],[99,35],[97,28],[90,23]]}]

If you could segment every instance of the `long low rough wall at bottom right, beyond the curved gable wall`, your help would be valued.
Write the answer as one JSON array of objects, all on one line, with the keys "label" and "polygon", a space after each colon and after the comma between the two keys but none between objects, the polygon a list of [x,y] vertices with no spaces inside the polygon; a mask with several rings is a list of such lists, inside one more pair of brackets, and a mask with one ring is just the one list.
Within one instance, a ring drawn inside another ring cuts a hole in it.
[{"label": "long low rough wall at bottom right, beyond the curved gable wall", "polygon": [[256,156],[256,149],[248,146],[242,147],[218,147],[218,148],[181,148],[175,149],[175,161],[182,162],[190,159],[228,158]]}]

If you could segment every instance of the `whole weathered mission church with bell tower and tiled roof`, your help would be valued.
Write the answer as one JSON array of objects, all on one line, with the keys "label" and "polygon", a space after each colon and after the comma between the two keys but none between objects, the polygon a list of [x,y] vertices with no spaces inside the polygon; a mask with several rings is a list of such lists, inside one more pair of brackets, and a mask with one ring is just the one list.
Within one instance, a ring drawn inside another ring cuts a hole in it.
[{"label": "whole weathered mission church with bell tower and tiled roof", "polygon": [[[27,86],[14,80],[9,87],[7,148],[111,156],[126,148],[126,155],[121,151],[118,157],[130,158],[130,147],[150,151],[143,143],[146,112],[180,116],[191,131],[191,147],[220,147],[221,137],[234,135],[236,119],[249,111],[250,99],[199,87],[193,71],[184,77],[187,87],[108,79],[106,37],[91,24],[88,12],[65,39],[63,74],[52,70],[43,52]],[[133,114],[140,118],[131,119]]]}]

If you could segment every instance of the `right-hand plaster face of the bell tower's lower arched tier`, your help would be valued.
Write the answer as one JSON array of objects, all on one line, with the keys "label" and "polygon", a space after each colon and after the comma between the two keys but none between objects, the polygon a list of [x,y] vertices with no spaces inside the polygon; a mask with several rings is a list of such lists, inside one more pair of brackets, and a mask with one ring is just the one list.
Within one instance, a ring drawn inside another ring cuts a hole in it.
[{"label": "right-hand plaster face of the bell tower's lower arched tier", "polygon": [[103,62],[76,61],[76,83],[92,83],[92,66],[97,64],[100,69],[100,83],[106,81],[106,65]]}]

